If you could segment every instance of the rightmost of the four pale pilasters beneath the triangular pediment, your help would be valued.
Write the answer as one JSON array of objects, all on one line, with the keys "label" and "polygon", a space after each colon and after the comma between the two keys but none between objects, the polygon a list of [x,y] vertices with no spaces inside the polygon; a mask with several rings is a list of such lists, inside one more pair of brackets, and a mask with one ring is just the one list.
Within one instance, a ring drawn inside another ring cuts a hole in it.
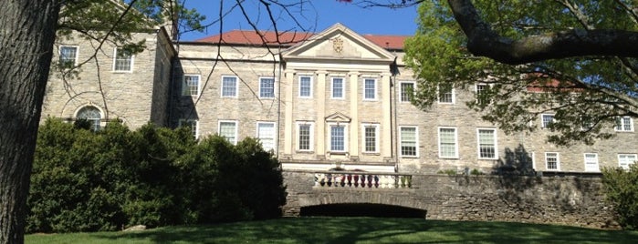
[{"label": "rightmost of the four pale pilasters beneath the triangular pediment", "polygon": [[[382,99],[382,157],[384,159],[392,159],[392,115],[391,115],[391,101],[390,101],[390,76],[389,73],[384,73],[381,76],[381,99]],[[396,108],[395,108],[396,109]],[[396,142],[394,142],[396,143]]]}]

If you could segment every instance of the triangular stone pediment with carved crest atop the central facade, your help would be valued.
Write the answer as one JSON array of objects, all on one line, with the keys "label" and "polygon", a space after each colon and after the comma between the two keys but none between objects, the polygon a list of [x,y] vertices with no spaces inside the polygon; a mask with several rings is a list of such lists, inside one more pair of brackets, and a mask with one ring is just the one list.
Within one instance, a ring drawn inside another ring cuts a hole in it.
[{"label": "triangular stone pediment with carved crest atop the central facade", "polygon": [[283,56],[285,59],[365,59],[388,62],[394,60],[392,53],[340,23],[288,48]]}]

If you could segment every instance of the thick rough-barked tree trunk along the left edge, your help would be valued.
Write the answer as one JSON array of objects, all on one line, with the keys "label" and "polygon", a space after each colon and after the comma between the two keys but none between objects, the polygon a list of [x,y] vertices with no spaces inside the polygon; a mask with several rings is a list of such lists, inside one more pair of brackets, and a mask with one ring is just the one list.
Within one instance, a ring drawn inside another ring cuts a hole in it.
[{"label": "thick rough-barked tree trunk along the left edge", "polygon": [[0,1],[0,244],[23,243],[58,0]]}]

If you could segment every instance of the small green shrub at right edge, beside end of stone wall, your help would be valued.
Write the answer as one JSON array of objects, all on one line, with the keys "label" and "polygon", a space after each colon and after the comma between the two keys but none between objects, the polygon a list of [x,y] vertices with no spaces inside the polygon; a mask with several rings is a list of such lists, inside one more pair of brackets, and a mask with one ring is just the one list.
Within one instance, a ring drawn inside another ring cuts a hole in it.
[{"label": "small green shrub at right edge, beside end of stone wall", "polygon": [[638,164],[629,170],[603,168],[602,183],[623,229],[638,229]]}]

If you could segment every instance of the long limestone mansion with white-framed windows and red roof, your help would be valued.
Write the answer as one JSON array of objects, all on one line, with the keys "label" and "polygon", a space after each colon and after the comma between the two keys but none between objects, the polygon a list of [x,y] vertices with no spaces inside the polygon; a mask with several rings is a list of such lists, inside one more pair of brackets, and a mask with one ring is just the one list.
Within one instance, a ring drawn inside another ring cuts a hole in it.
[{"label": "long limestone mansion with white-framed windows and red roof", "polygon": [[[556,147],[549,131],[505,135],[465,106],[474,91],[439,95],[429,110],[410,100],[416,87],[403,65],[407,36],[360,35],[336,24],[316,33],[230,31],[173,42],[161,27],[133,36],[146,49],[128,55],[102,47],[99,66],[72,78],[52,72],[42,117],[87,118],[104,127],[149,121],[190,126],[194,137],[219,134],[236,143],[258,137],[285,169],[361,169],[435,173],[511,166],[539,171],[599,172],[636,161],[633,117],[616,137],[593,146]],[[63,39],[54,63],[77,65],[93,55],[82,39]],[[536,119],[538,127],[551,114]]]}]

